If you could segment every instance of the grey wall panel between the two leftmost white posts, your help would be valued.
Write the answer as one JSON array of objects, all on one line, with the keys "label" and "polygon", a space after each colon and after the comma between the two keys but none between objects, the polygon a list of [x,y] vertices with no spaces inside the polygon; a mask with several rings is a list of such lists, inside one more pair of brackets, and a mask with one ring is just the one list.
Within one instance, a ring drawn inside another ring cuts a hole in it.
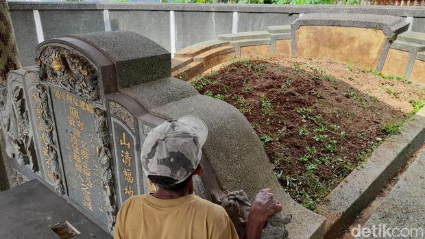
[{"label": "grey wall panel between the two leftmost white posts", "polygon": [[40,11],[45,40],[88,32],[104,32],[104,12],[91,11]]}]

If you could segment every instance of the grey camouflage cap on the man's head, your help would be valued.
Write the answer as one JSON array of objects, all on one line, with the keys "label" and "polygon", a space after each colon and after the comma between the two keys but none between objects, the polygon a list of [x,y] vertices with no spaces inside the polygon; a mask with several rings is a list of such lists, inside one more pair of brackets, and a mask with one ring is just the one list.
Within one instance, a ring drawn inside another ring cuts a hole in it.
[{"label": "grey camouflage cap on the man's head", "polygon": [[204,121],[184,116],[152,129],[143,143],[141,158],[146,176],[166,176],[178,184],[193,173],[202,158],[208,136]]}]

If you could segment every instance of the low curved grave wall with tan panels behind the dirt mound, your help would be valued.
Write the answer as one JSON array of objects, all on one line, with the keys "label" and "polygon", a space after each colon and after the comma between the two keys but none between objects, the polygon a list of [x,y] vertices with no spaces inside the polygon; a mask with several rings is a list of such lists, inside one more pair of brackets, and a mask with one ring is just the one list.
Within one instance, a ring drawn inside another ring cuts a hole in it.
[{"label": "low curved grave wall with tan panels behind the dirt mound", "polygon": [[424,84],[425,33],[410,32],[409,26],[398,16],[304,14],[291,25],[223,34],[177,51],[171,71],[191,79],[232,57],[280,54],[339,60]]}]

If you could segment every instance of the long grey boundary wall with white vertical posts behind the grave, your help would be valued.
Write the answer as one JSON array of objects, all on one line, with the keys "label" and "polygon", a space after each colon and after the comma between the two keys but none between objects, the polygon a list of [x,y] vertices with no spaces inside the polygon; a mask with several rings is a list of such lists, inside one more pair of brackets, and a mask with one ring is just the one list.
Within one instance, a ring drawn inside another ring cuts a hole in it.
[{"label": "long grey boundary wall with white vertical posts behind the grave", "polygon": [[67,34],[128,30],[175,53],[219,34],[289,25],[312,12],[408,16],[412,31],[425,32],[423,7],[36,2],[10,2],[9,7],[23,66],[34,65],[38,42]]}]

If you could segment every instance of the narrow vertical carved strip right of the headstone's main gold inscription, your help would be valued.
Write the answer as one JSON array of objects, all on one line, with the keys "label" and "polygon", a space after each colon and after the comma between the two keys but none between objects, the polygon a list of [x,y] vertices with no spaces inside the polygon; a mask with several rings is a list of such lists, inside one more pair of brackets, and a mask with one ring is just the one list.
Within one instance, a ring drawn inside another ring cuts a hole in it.
[{"label": "narrow vertical carved strip right of the headstone's main gold inscription", "polygon": [[112,154],[110,151],[110,137],[108,123],[106,122],[106,111],[95,108],[96,129],[98,135],[97,155],[103,171],[101,184],[104,188],[104,201],[106,202],[106,215],[110,233],[113,234],[115,218],[117,216],[117,201],[115,199],[114,175],[112,173]]}]

